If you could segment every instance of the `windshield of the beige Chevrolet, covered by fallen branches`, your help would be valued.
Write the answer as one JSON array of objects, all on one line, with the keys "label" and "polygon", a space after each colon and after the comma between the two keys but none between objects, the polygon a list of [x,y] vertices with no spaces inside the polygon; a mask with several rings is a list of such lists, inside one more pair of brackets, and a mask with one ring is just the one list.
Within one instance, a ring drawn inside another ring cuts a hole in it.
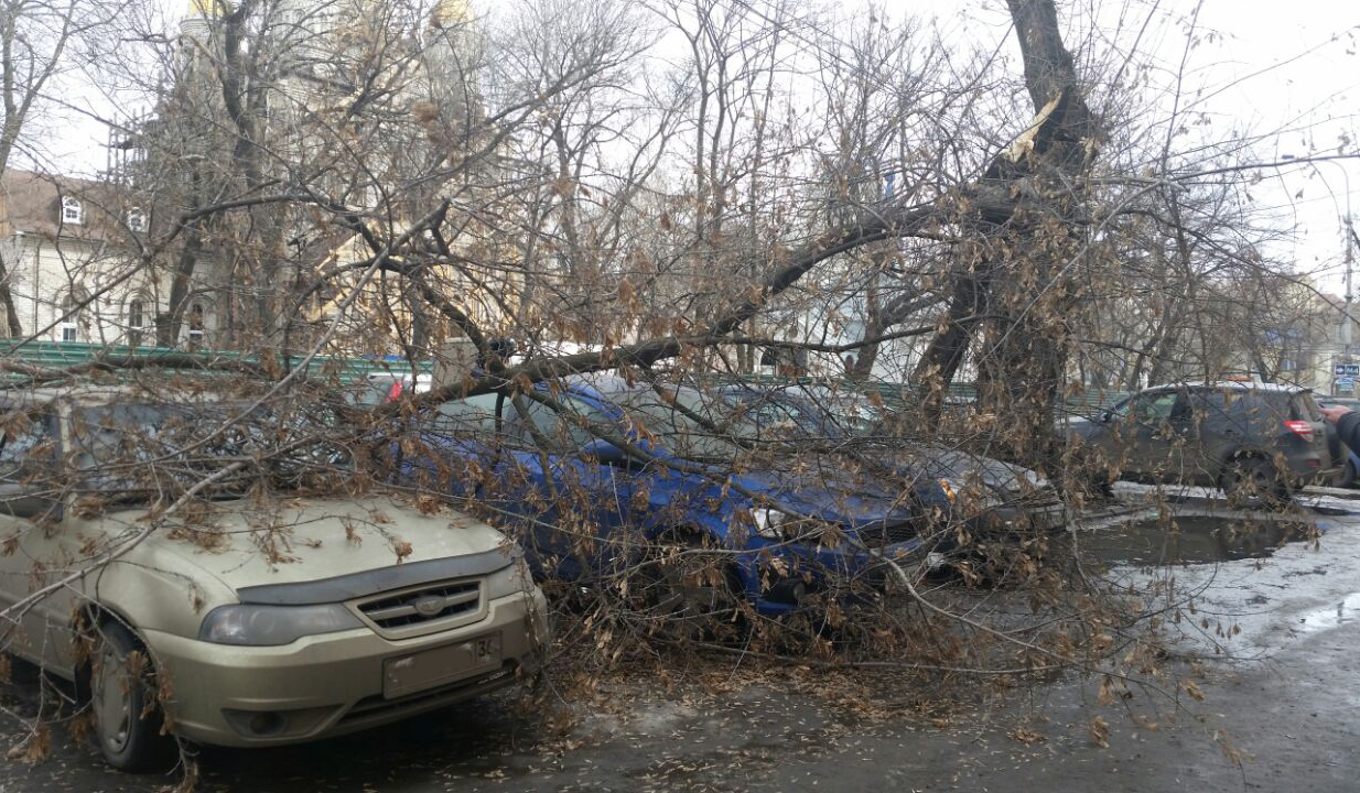
[{"label": "windshield of the beige Chevrolet, covered by fallen branches", "polygon": [[310,490],[351,469],[348,452],[325,439],[333,419],[317,412],[283,415],[262,408],[238,419],[249,407],[234,403],[78,407],[71,414],[67,452],[84,487],[129,498],[193,487],[234,462],[239,471],[215,483],[211,495],[238,495],[265,482],[272,490]]}]

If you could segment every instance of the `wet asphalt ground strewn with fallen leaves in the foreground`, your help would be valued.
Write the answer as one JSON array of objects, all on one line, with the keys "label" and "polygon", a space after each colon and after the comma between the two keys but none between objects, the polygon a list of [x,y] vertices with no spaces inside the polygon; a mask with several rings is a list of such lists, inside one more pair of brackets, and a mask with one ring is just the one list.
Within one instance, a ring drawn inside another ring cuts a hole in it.
[{"label": "wet asphalt ground strewn with fallen leaves in the foreground", "polygon": [[[1102,705],[1098,681],[1070,679],[940,713],[808,671],[733,665],[703,692],[611,684],[578,703],[574,724],[526,718],[515,698],[496,696],[311,745],[208,749],[200,789],[1355,790],[1360,502],[1322,494],[1330,514],[1244,517],[1186,499],[1167,532],[1141,498],[1121,492],[1123,514],[1077,541],[1117,582],[1174,579],[1198,593],[1176,642],[1209,661],[1160,694],[1134,688]],[[23,702],[11,691],[5,705]],[[18,724],[4,733],[14,741]],[[173,781],[112,773],[61,740],[44,763],[0,763],[4,793]]]}]

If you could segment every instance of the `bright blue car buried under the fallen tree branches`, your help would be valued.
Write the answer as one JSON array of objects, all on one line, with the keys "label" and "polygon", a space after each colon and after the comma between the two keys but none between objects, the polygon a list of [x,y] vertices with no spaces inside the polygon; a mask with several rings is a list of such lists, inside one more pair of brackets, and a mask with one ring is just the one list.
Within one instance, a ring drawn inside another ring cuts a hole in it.
[{"label": "bright blue car buried under the fallen tree branches", "polygon": [[524,394],[446,403],[401,443],[398,471],[520,528],[543,579],[616,581],[658,547],[704,548],[724,559],[710,586],[779,615],[809,596],[872,596],[934,541],[910,491],[790,456],[722,399],[582,377],[536,394],[562,409]]}]

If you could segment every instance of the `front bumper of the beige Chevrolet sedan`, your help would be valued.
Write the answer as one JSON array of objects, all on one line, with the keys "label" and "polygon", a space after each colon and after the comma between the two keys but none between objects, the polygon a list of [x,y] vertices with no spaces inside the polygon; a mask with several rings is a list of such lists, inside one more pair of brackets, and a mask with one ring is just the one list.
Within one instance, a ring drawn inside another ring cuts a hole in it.
[{"label": "front bumper of the beige Chevrolet sedan", "polygon": [[[258,747],[344,735],[434,710],[537,672],[548,641],[537,588],[487,604],[487,616],[452,630],[386,639],[370,628],[305,637],[291,645],[215,645],[144,631],[167,675],[166,706],[181,737]],[[496,647],[476,657],[462,647]],[[438,667],[438,683],[403,688],[394,669]]]}]

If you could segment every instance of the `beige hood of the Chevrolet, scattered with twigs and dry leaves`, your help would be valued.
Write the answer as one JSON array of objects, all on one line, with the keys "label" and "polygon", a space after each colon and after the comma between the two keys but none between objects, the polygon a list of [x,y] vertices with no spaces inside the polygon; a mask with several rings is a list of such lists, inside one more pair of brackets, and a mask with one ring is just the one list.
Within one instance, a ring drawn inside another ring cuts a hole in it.
[{"label": "beige hood of the Chevrolet, scattered with twigs and dry leaves", "polygon": [[[506,551],[509,559],[507,541],[491,526],[447,509],[426,514],[390,498],[211,506],[201,525],[170,525],[126,560],[158,569],[190,566],[241,590],[496,550]],[[136,521],[139,516],[117,517]]]}]

